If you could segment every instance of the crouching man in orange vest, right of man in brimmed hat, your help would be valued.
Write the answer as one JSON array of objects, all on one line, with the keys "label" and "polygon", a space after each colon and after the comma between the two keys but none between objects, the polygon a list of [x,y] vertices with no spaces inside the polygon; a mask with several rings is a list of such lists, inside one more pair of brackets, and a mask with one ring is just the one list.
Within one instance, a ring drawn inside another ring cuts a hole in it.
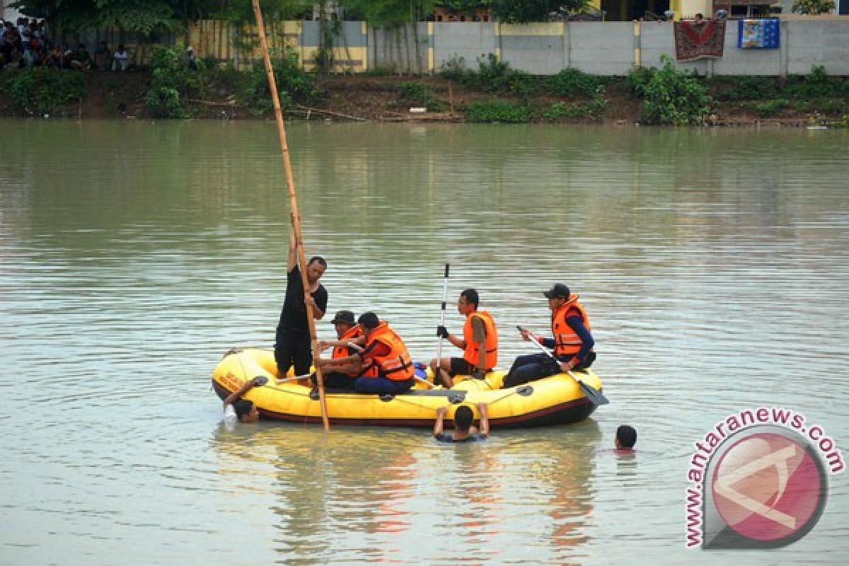
[{"label": "crouching man in orange vest, right of man in brimmed hat", "polygon": [[354,388],[360,393],[392,394],[413,387],[416,373],[413,357],[401,337],[374,312],[364,313],[357,322],[363,329],[365,348],[336,361],[339,364],[357,360],[363,363],[364,373],[354,380]]}]

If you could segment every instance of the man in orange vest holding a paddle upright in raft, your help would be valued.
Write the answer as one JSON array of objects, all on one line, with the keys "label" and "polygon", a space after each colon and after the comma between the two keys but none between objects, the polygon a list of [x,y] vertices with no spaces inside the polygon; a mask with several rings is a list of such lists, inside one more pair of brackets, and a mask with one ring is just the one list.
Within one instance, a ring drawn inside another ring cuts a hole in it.
[{"label": "man in orange vest holding a paddle upright in raft", "polygon": [[[430,360],[430,371],[434,381],[438,375],[447,388],[453,387],[455,375],[470,375],[482,379],[498,363],[498,332],[495,319],[487,311],[478,311],[478,294],[475,289],[466,289],[460,293],[457,311],[466,317],[463,338],[449,333],[444,326],[436,327],[436,335],[447,339],[453,345],[464,350],[463,357],[445,357]],[[436,364],[439,364],[437,369]]]}]

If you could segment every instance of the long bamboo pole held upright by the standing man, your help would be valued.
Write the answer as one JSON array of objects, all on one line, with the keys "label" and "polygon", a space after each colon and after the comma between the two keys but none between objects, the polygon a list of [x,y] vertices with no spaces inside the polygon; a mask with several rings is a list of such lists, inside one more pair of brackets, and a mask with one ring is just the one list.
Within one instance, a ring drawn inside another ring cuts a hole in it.
[{"label": "long bamboo pole held upright by the standing man", "polygon": [[[286,170],[286,186],[289,188],[289,200],[292,208],[292,229],[295,231],[295,248],[298,252],[298,263],[301,265],[301,282],[304,286],[304,303],[306,304],[306,322],[310,327],[310,340],[312,341],[312,359],[318,360],[321,353],[318,350],[316,339],[316,322],[312,317],[312,305],[306,300],[309,281],[306,278],[306,255],[304,255],[304,244],[301,240],[301,216],[298,215],[298,199],[295,196],[295,179],[292,177],[292,164],[289,160],[289,145],[286,143],[286,128],[283,123],[283,109],[280,108],[280,98],[277,92],[277,81],[274,80],[274,69],[271,66],[271,55],[268,54],[268,40],[265,35],[265,22],[262,20],[262,11],[259,0],[253,0],[254,15],[256,16],[256,31],[260,36],[262,46],[262,58],[266,64],[266,75],[268,76],[268,88],[271,90],[272,104],[274,105],[274,118],[277,120],[277,132],[280,137],[280,150],[283,152],[283,165]],[[321,405],[321,420],[324,430],[330,429],[327,417],[327,400],[324,398],[324,376],[321,368],[316,366],[316,379],[318,381],[318,402]]]}]

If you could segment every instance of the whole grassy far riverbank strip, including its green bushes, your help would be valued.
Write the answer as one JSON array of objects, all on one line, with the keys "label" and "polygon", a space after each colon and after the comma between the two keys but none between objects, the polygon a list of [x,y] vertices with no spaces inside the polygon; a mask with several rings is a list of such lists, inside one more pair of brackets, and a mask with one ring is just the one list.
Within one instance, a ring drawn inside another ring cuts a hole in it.
[{"label": "whole grassy far riverbank strip, including its green bushes", "polygon": [[[698,77],[664,59],[625,77],[565,69],[530,76],[490,56],[475,66],[453,59],[433,77],[380,70],[316,76],[290,53],[274,63],[290,117],[329,120],[453,120],[499,123],[641,123],[673,126],[775,122],[849,126],[849,80],[822,68],[807,76]],[[411,114],[411,108],[424,113]],[[188,69],[171,49],[151,69],[0,72],[0,115],[79,118],[268,118],[264,69],[212,61]]]}]

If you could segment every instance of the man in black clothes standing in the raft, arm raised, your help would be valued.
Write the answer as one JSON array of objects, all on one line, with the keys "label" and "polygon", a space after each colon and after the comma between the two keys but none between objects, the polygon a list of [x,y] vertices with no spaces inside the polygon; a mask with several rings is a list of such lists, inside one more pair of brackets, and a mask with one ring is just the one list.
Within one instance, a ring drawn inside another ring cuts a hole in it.
[{"label": "man in black clothes standing in the raft, arm raised", "polygon": [[318,280],[327,269],[327,261],[318,255],[306,262],[306,281],[309,293],[304,293],[301,268],[295,247],[295,234],[289,240],[289,257],[286,260],[286,298],[277,323],[274,343],[274,360],[278,376],[284,378],[289,368],[295,366],[295,375],[309,373],[312,365],[312,338],[306,320],[306,302],[312,307],[312,317],[321,320],[327,310],[327,289]]}]

